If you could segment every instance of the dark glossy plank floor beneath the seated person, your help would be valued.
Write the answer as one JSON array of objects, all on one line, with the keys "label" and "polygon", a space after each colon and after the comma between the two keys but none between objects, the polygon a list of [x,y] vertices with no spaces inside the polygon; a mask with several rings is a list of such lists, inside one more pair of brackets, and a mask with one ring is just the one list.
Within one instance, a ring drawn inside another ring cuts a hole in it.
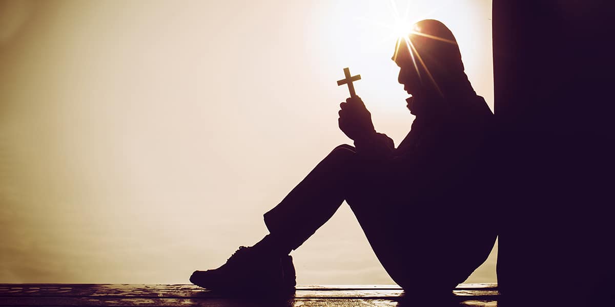
[{"label": "dark glossy plank floor beneath the seated person", "polygon": [[192,285],[0,284],[0,306],[497,306],[495,284],[461,284],[447,298],[398,286],[298,286],[290,298],[231,298]]}]

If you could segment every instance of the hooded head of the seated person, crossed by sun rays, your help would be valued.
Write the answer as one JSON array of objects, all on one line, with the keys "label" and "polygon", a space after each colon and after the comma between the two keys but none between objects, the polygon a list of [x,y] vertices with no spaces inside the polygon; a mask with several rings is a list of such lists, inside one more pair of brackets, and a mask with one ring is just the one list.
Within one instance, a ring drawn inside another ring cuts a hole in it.
[{"label": "hooded head of the seated person, crossed by sun rays", "polygon": [[392,60],[400,67],[399,83],[415,98],[446,100],[460,91],[474,92],[464,72],[457,41],[440,21],[416,23],[412,33],[397,41]]}]

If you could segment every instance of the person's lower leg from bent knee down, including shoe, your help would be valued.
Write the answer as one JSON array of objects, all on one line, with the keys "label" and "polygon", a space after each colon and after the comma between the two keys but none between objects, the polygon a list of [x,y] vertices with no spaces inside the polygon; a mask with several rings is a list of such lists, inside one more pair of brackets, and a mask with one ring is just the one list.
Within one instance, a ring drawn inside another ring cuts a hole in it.
[{"label": "person's lower leg from bent knee down, including shoe", "polygon": [[270,235],[253,247],[240,247],[220,268],[195,271],[190,281],[208,289],[246,292],[295,287],[288,253],[322,226],[344,201],[345,183],[355,168],[354,147],[336,147],[276,208],[264,215]]}]

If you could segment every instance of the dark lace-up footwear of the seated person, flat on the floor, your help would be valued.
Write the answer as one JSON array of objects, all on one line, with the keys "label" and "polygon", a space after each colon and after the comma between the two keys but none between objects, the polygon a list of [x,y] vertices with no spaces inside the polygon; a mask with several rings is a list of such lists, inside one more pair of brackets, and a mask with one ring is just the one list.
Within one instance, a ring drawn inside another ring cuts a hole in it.
[{"label": "dark lace-up footwear of the seated person, flat on the floor", "polygon": [[241,246],[220,268],[194,271],[190,282],[227,293],[288,293],[295,290],[295,266],[290,255],[271,257]]}]

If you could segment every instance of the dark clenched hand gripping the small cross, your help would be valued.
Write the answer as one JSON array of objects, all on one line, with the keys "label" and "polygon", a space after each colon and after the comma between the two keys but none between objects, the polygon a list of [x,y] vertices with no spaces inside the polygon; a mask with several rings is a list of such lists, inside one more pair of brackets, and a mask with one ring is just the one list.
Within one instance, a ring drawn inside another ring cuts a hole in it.
[{"label": "dark clenched hand gripping the small cross", "polygon": [[376,133],[371,122],[371,113],[359,96],[347,98],[345,103],[339,104],[339,130],[354,141],[367,138]]}]

